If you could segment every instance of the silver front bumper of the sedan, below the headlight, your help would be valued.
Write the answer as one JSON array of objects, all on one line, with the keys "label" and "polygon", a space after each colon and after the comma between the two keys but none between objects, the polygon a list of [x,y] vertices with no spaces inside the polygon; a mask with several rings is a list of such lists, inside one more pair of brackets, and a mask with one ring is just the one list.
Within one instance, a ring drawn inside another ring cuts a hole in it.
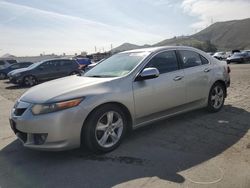
[{"label": "silver front bumper of the sedan, below the headlight", "polygon": [[10,116],[11,128],[25,147],[60,151],[80,146],[87,114],[81,106],[42,115],[33,115],[31,107],[19,101]]}]

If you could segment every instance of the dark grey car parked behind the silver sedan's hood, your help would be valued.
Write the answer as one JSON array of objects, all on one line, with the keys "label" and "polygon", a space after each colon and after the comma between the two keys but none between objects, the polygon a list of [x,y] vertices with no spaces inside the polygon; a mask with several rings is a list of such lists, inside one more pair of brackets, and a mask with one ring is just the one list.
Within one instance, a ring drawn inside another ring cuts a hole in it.
[{"label": "dark grey car parked behind the silver sedan's hood", "polygon": [[34,63],[25,69],[9,74],[10,82],[26,86],[68,75],[79,74],[79,64],[73,59],[52,59]]}]

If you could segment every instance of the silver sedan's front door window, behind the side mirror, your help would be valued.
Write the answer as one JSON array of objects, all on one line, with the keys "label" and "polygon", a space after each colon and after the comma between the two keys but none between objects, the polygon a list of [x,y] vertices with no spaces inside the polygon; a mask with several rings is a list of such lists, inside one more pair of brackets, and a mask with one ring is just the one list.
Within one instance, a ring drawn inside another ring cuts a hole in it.
[{"label": "silver sedan's front door window, behind the side mirror", "polygon": [[174,51],[162,52],[154,56],[146,66],[157,68],[160,74],[178,70],[178,62]]}]

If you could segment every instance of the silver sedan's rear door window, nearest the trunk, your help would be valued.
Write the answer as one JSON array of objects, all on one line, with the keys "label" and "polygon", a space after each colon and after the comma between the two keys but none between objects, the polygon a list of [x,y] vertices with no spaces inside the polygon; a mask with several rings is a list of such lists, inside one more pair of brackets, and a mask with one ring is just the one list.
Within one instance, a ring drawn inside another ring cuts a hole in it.
[{"label": "silver sedan's rear door window, nearest the trunk", "polygon": [[202,60],[198,53],[188,50],[180,50],[179,52],[181,60],[183,62],[183,68],[202,65]]}]

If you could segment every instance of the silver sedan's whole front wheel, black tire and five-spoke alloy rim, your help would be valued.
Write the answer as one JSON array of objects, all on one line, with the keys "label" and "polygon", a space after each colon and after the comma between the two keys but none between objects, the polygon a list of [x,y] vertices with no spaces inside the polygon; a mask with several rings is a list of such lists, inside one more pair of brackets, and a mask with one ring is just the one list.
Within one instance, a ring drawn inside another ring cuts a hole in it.
[{"label": "silver sedan's whole front wheel, black tire and five-spoke alloy rim", "polygon": [[83,125],[81,138],[94,153],[110,152],[120,145],[127,125],[128,121],[122,109],[117,105],[107,104],[90,114]]}]

